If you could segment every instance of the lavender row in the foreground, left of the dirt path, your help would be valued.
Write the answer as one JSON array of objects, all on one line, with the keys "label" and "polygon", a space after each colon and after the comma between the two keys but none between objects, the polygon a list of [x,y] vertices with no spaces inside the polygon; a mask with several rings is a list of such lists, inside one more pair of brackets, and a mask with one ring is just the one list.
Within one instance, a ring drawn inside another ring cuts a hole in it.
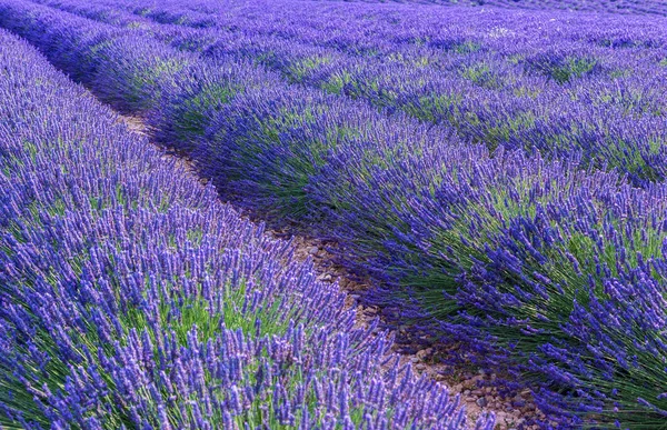
[{"label": "lavender row in the foreground, left of the dirt path", "polygon": [[4,31],[0,70],[0,427],[466,428],[288,242]]}]

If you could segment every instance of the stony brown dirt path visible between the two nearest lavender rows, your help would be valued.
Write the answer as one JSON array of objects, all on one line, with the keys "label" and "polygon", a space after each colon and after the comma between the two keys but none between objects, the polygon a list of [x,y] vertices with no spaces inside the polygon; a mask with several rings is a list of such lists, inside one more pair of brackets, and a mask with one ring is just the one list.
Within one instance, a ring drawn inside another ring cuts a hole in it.
[{"label": "stony brown dirt path visible between the two nearest lavender rows", "polygon": [[[151,132],[140,118],[119,114],[119,122],[125,123],[130,131],[148,137],[151,141]],[[197,162],[187,154],[179,153],[173,149],[166,149],[158,143],[152,144],[160,149],[165,158],[176,158],[199,181],[208,182],[199,174]],[[221,200],[223,200],[222,197]],[[253,222],[270,221],[263,219],[260,214],[249,213],[247,210],[238,208],[233,202],[225,202],[235,207],[239,213]],[[348,292],[347,303],[357,309],[359,324],[367,326],[371,320],[382,318],[378,307],[364,304],[359,300],[360,292],[371,288],[372,280],[359,280],[359,277],[337,264],[334,253],[330,252],[331,249],[336,248],[336,243],[300,233],[295,234],[289,228],[282,230],[267,228],[267,234],[276,239],[291,239],[295,247],[295,257],[300,261],[310,259],[320,281],[336,282],[344,291]],[[495,387],[497,384],[494,383],[498,379],[496,373],[487,373],[471,367],[461,368],[445,364],[439,357],[456,349],[456,346],[429,346],[428,342],[414,342],[409,347],[395,344],[394,350],[400,354],[402,363],[410,362],[412,364],[412,370],[417,374],[425,374],[435,381],[441,382],[449,388],[452,396],[460,394],[461,403],[466,406],[469,422],[474,423],[481,414],[492,412],[496,416],[496,430],[532,430],[538,427],[528,423],[535,419],[544,419],[544,416],[532,402],[530,390],[526,389],[514,392],[511,396],[501,396],[499,392],[501,387]]]}]

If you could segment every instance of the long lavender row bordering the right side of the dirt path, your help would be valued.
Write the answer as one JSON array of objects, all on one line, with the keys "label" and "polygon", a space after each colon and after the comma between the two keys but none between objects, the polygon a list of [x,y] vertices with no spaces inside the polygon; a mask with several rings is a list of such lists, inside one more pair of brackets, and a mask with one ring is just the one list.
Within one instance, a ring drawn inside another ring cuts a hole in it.
[{"label": "long lavender row bordering the right side of the dirt path", "polygon": [[100,94],[160,132],[177,124],[220,184],[331,232],[348,263],[439,317],[441,333],[516,364],[552,419],[664,422],[664,186],[522,151],[491,158],[445,128],[202,60],[141,28],[1,4],[3,26]]}]

